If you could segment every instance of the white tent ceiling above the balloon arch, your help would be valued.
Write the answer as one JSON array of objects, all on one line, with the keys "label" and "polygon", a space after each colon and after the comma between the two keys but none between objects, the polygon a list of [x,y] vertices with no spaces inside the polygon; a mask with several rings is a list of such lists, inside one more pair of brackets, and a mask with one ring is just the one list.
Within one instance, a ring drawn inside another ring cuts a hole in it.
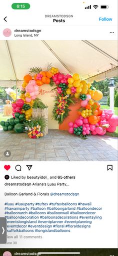
[{"label": "white tent ceiling above the balloon arch", "polygon": [[[52,63],[63,73],[103,80],[117,75],[117,41],[0,41],[0,85],[23,80],[30,67]],[[3,81],[4,80],[4,81]]]}]

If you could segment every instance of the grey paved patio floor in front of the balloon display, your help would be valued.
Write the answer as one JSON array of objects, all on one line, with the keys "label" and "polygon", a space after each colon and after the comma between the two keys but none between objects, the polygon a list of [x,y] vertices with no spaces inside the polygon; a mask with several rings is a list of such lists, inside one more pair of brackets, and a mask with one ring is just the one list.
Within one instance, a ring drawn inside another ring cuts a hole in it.
[{"label": "grey paved patio floor in front of the balloon display", "polygon": [[[11,156],[3,153],[10,150]],[[117,161],[117,138],[90,136],[87,140],[66,131],[49,130],[44,138],[0,131],[0,161]]]}]

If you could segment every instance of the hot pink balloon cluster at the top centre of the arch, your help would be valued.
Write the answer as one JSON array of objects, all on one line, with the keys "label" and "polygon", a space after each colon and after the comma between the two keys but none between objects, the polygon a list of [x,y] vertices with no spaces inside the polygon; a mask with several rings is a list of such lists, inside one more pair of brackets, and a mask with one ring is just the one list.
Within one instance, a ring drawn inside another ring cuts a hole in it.
[{"label": "hot pink balloon cluster at the top centre of the arch", "polygon": [[53,82],[55,82],[56,85],[60,84],[60,83],[65,83],[66,85],[68,84],[67,79],[70,78],[71,75],[67,74],[61,74],[61,73],[57,73],[55,75],[53,75],[52,79]]}]

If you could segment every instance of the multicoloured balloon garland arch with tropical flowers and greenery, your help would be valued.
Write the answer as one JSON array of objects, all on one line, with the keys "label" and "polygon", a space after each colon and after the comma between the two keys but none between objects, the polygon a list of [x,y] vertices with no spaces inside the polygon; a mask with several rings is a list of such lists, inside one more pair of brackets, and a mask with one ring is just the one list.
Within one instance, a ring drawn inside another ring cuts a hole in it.
[{"label": "multicoloured balloon garland arch with tropical flowers and greenery", "polygon": [[111,110],[100,109],[100,104],[97,102],[102,98],[102,92],[85,80],[81,80],[77,73],[65,75],[50,65],[46,71],[42,71],[41,68],[31,68],[30,71],[33,75],[24,76],[20,87],[20,98],[12,103],[13,118],[7,121],[7,125],[1,121],[4,131],[8,130],[9,125],[9,130],[16,130],[15,124],[18,123],[18,119],[22,120],[20,131],[24,131],[26,122],[31,120],[32,106],[43,84],[56,86],[52,118],[58,123],[62,123],[68,116],[69,105],[79,102],[78,118],[68,123],[70,134],[85,138],[88,135],[105,135],[106,131],[111,133],[115,131],[117,116],[113,115]]}]

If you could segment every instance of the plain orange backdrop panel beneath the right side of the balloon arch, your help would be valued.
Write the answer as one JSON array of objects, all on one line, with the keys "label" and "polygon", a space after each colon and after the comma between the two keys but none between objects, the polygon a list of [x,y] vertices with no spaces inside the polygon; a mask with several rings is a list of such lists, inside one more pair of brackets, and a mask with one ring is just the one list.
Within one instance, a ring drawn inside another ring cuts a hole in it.
[{"label": "plain orange backdrop panel beneath the right side of the balloon arch", "polygon": [[68,122],[73,122],[77,117],[77,109],[80,107],[79,103],[71,104],[71,106],[69,107],[69,109],[71,109],[71,111],[69,112],[69,115],[64,119],[64,121],[59,124],[59,130],[68,130]]}]

